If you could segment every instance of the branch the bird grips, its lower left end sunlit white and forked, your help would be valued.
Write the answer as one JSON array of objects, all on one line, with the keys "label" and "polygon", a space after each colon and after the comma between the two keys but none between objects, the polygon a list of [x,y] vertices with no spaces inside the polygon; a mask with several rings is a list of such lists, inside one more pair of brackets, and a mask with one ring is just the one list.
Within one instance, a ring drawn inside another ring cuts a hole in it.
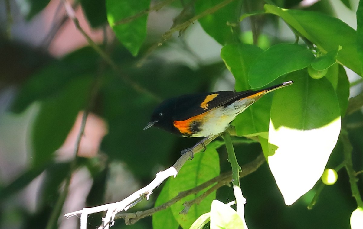
[{"label": "branch the bird grips, its lower left end sunlit white and forked", "polygon": [[[208,140],[206,140],[204,142],[204,145],[208,145],[211,141],[213,141],[218,136],[219,135],[209,138]],[[199,153],[202,149],[204,149],[203,144],[197,145],[196,147],[193,148],[193,154]],[[125,199],[123,199],[120,202],[104,204],[104,205],[92,207],[92,208],[83,208],[82,210],[79,210],[76,212],[67,213],[65,215],[65,217],[69,218],[72,216],[81,215],[81,218],[84,219],[84,218],[87,218],[85,215],[88,216],[89,214],[92,214],[92,213],[107,211],[106,216],[104,218],[102,218],[103,224],[101,226],[99,226],[99,228],[109,229],[110,226],[114,225],[114,222],[115,222],[114,219],[115,219],[115,216],[117,213],[131,208],[135,202],[138,202],[138,201],[144,199],[145,197],[148,200],[152,191],[156,187],[158,187],[166,178],[168,178],[170,176],[175,177],[178,174],[180,168],[187,161],[188,157],[189,157],[189,154],[182,155],[178,159],[178,161],[175,162],[175,164],[173,166],[171,166],[170,168],[168,168],[164,171],[158,172],[158,174],[156,174],[156,178],[154,180],[152,180],[152,182],[150,184],[148,184],[147,186],[141,188],[140,190],[132,193],[130,196],[126,197]],[[82,220],[81,229],[86,229],[86,227],[87,227],[87,221]]]}]

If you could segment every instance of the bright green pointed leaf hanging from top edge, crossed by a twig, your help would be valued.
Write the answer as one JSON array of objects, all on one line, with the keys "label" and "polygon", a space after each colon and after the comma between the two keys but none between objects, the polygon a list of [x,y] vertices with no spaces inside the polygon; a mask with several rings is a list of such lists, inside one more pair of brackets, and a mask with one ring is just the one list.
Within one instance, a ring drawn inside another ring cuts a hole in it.
[{"label": "bright green pointed leaf hanging from top edge, crossed by a twig", "polygon": [[106,0],[107,20],[119,41],[136,56],[146,38],[147,14],[144,14],[126,24],[118,21],[134,16],[150,6],[150,0]]}]

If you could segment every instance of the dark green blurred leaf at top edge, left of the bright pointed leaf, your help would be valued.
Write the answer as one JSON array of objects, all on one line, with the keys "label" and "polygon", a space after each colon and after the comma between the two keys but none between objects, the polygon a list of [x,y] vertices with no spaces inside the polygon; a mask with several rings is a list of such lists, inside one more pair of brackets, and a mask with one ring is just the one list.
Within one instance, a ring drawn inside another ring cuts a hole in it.
[{"label": "dark green blurred leaf at top edge, left of the bright pointed leaf", "polygon": [[107,23],[106,0],[80,0],[80,2],[92,28],[97,28]]}]

